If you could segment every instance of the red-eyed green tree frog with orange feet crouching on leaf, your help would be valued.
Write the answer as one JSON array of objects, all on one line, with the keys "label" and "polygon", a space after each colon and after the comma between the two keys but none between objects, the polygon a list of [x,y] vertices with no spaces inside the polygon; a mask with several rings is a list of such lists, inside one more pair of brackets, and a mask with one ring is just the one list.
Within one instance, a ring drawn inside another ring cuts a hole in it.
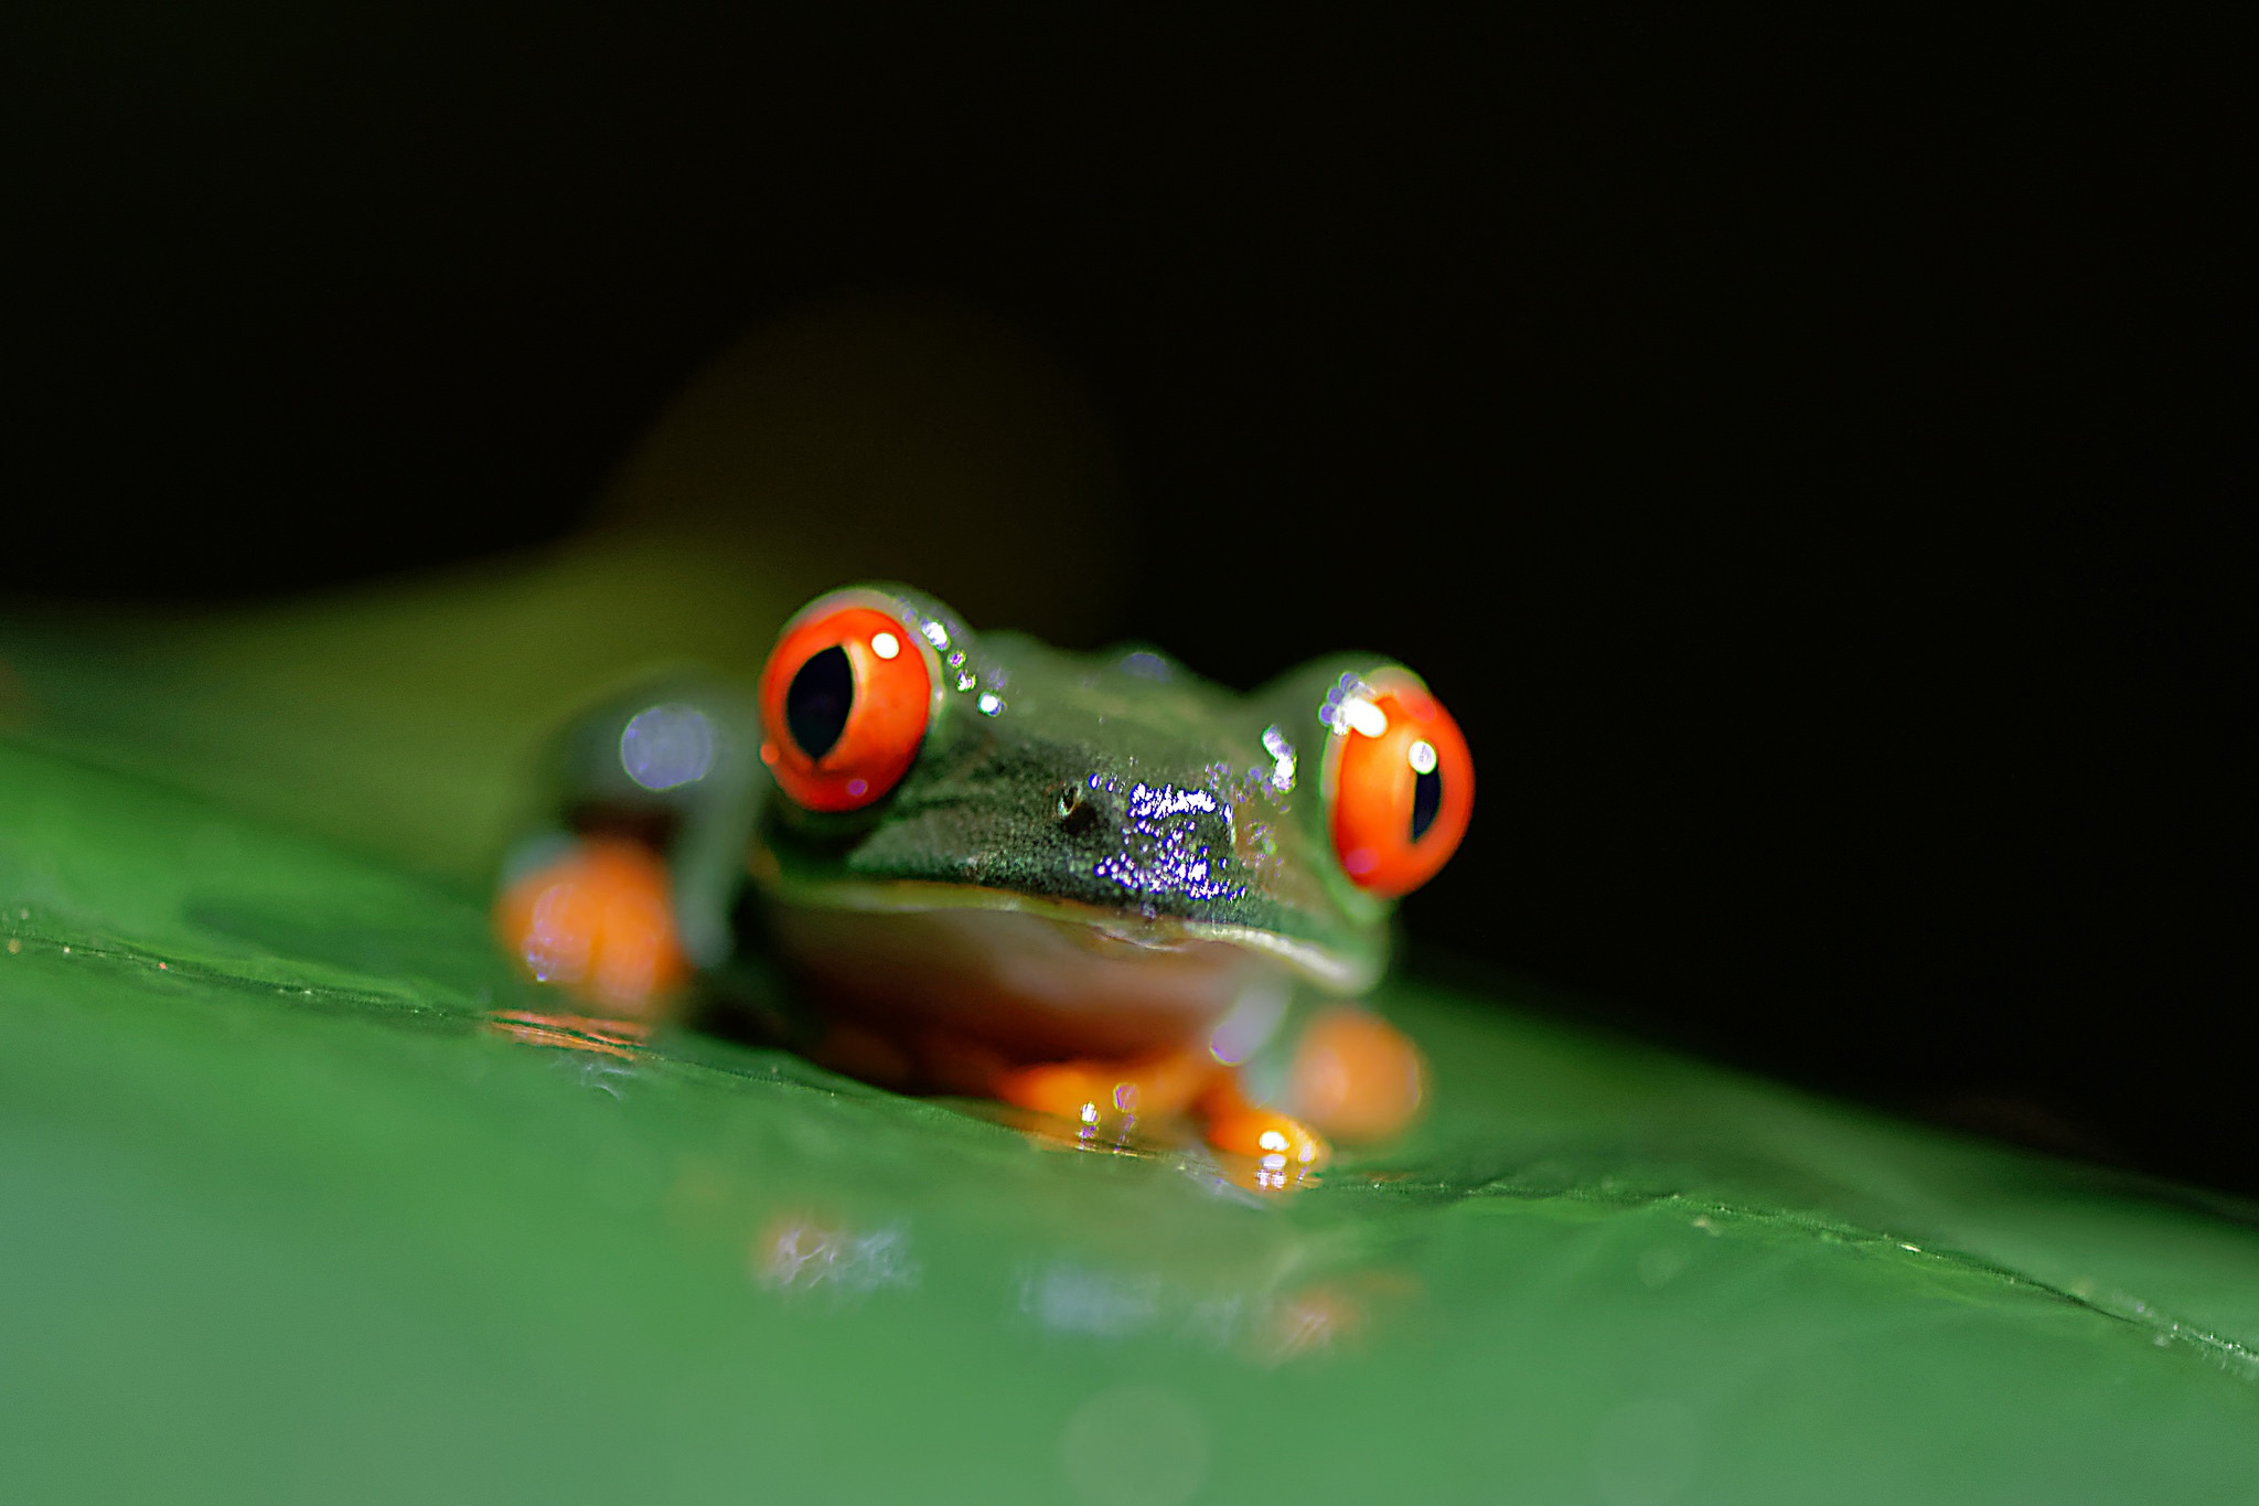
[{"label": "red-eyed green tree frog with orange feet crouching on leaf", "polygon": [[1240,695],[1159,648],[845,585],[750,698],[680,677],[592,707],[549,786],[495,923],[601,1016],[750,960],[784,980],[773,1034],[822,1066],[1084,1138],[1193,1124],[1272,1183],[1425,1106],[1425,1059],[1364,1000],[1475,777],[1385,655]]}]

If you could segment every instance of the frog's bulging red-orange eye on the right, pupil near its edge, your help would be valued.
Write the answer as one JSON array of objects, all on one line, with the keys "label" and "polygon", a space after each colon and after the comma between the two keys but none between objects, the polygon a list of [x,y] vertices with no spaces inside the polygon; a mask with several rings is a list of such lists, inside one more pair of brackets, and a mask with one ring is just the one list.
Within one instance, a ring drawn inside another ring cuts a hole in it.
[{"label": "frog's bulging red-orange eye on the right, pupil near its edge", "polygon": [[1410,894],[1450,860],[1475,808],[1475,761],[1459,723],[1401,671],[1344,677],[1326,695],[1333,853],[1373,894]]}]

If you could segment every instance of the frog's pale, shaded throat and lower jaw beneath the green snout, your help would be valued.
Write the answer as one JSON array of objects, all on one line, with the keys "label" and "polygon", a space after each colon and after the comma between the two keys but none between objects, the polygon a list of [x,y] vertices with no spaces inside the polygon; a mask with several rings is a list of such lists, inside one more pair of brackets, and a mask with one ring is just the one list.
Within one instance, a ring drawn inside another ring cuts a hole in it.
[{"label": "frog's pale, shaded throat and lower jaw beneath the green snout", "polygon": [[755,874],[777,948],[834,1009],[1008,1057],[1139,1057],[1204,1039],[1279,973],[1358,993],[1378,962],[1249,926],[928,881]]}]

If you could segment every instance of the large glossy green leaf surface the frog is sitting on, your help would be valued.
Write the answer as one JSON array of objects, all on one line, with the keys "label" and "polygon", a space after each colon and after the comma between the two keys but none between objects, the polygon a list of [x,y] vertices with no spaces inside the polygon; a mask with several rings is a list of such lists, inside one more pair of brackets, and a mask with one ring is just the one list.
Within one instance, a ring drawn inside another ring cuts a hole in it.
[{"label": "large glossy green leaf surface the frog is sitting on", "polygon": [[470,887],[5,745],[0,905],[11,1499],[2259,1481],[2234,1208],[1495,1000],[1396,984],[1434,1115],[1258,1199],[558,1018]]}]

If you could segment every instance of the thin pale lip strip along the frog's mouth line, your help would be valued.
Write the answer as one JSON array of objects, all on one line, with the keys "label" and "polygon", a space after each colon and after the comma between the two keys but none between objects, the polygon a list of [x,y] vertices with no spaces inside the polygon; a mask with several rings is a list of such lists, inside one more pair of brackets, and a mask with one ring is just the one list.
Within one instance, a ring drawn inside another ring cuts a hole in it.
[{"label": "thin pale lip strip along the frog's mouth line", "polygon": [[1107,910],[1073,899],[1044,899],[1014,890],[989,890],[976,883],[935,883],[931,878],[827,878],[791,883],[768,865],[755,865],[755,878],[770,899],[809,910],[854,910],[861,914],[928,914],[935,910],[1003,910],[1050,921],[1084,926],[1096,935],[1132,946],[1168,951],[1190,942],[1224,942],[1261,953],[1301,973],[1328,993],[1364,993],[1380,982],[1385,957],[1355,957],[1328,951],[1315,942],[1297,942],[1258,926],[1224,926],[1179,917],[1143,917],[1134,910]]}]

